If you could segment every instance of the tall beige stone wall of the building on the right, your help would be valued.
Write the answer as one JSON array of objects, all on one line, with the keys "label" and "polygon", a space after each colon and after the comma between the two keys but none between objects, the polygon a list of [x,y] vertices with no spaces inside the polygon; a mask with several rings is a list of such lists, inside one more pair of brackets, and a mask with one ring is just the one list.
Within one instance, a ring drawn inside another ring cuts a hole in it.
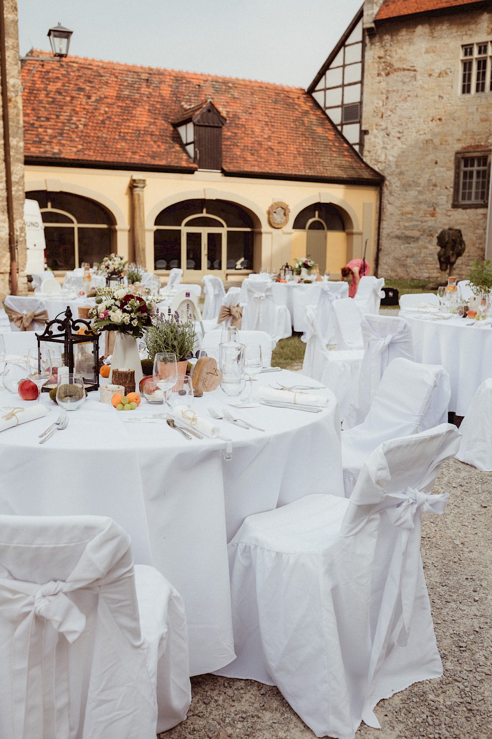
[{"label": "tall beige stone wall of the building on the right", "polygon": [[487,208],[452,208],[454,155],[491,149],[492,93],[460,95],[462,44],[490,41],[492,10],[378,26],[366,35],[364,159],[386,177],[381,276],[443,279],[437,234],[460,228],[455,273],[483,259]]}]

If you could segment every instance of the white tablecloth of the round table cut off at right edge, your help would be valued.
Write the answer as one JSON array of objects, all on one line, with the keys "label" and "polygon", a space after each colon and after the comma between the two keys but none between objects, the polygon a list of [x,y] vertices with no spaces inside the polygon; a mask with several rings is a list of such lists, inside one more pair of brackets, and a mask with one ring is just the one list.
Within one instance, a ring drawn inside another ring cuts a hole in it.
[{"label": "white tablecloth of the round table cut off at right edge", "polygon": [[474,319],[400,312],[411,325],[417,362],[442,364],[451,378],[449,410],[466,415],[476,390],[492,377],[492,327]]}]

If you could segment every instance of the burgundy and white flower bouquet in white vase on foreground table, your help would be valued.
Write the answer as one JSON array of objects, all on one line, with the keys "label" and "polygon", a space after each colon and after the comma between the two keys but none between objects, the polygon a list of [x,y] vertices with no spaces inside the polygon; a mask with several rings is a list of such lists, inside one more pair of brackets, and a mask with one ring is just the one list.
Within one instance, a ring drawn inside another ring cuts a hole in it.
[{"label": "burgundy and white flower bouquet in white vase on foreground table", "polygon": [[151,327],[156,299],[154,296],[143,299],[128,287],[98,287],[95,302],[95,307],[89,311],[95,329],[116,333],[109,382],[112,382],[113,369],[133,369],[138,386],[143,372],[135,339]]}]

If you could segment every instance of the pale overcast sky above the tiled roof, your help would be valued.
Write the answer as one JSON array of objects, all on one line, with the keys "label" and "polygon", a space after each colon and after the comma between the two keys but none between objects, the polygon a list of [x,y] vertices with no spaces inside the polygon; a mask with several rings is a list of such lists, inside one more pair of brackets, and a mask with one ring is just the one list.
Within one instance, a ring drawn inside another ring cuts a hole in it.
[{"label": "pale overcast sky above the tiled roof", "polygon": [[70,53],[306,88],[362,0],[17,0],[21,55],[73,31]]}]

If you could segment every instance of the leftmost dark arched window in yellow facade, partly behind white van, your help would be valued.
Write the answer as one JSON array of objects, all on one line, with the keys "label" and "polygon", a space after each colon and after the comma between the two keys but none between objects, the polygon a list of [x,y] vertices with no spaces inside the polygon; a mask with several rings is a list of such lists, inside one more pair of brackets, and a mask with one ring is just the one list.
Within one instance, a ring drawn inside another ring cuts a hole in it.
[{"label": "leftmost dark arched window in yellow facade, partly behind white van", "polygon": [[112,248],[114,219],[98,202],[67,192],[26,193],[37,200],[44,223],[47,265],[72,270],[82,262],[100,262]]}]

